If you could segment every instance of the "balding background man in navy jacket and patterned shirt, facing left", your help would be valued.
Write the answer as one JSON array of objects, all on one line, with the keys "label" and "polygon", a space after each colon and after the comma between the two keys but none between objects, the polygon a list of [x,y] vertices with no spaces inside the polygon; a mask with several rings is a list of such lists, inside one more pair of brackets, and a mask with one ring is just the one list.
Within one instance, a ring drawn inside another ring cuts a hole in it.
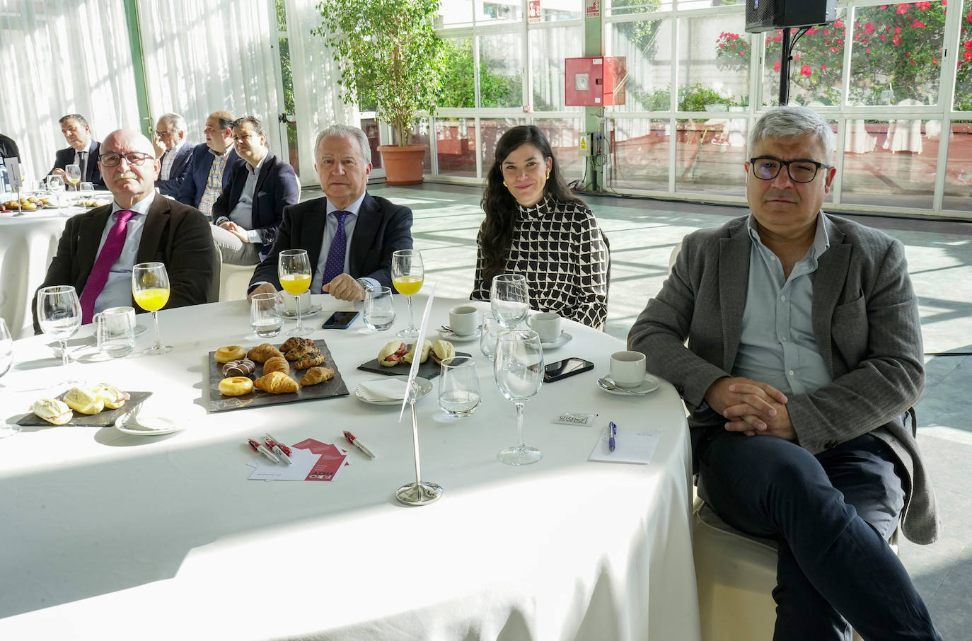
[{"label": "balding background man in navy jacket and patterned shirt, facing left", "polygon": [[192,148],[176,200],[195,207],[211,218],[213,204],[223,193],[229,179],[229,167],[239,159],[233,149],[233,115],[228,111],[214,111],[206,119],[202,133],[206,142]]}]

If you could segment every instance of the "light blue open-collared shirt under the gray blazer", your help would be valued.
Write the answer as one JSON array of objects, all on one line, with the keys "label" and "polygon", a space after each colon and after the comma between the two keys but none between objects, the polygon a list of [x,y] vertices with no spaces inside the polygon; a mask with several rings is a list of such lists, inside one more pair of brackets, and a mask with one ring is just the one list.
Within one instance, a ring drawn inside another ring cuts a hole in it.
[{"label": "light blue open-collared shirt under the gray blazer", "polygon": [[780,259],[760,240],[752,214],[746,226],[752,251],[732,374],[767,382],[786,394],[813,392],[831,381],[813,323],[817,260],[830,246],[823,218],[817,214],[814,242],[788,278]]}]

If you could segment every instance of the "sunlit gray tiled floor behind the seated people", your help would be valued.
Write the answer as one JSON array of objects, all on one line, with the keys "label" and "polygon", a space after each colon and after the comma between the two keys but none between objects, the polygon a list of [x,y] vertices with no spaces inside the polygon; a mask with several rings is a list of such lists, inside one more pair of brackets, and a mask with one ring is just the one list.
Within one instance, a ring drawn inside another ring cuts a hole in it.
[{"label": "sunlit gray tiled floor behind the seated people", "polygon": [[[465,297],[472,288],[475,236],[482,220],[478,189],[455,185],[369,186],[412,207],[415,246],[423,250],[436,293]],[[304,197],[316,197],[309,192]],[[606,331],[627,336],[647,299],[661,287],[672,248],[689,232],[745,209],[648,199],[591,197],[611,244]],[[935,486],[944,534],[932,546],[903,541],[901,559],[946,639],[972,641],[972,223],[858,217],[906,246],[920,297],[927,381],[917,406],[919,444]]]}]

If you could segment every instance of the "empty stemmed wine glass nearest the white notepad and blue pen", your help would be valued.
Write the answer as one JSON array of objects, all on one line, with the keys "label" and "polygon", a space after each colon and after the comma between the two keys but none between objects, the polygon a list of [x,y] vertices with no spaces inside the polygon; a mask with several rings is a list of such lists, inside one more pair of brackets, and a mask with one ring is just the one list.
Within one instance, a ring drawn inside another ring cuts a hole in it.
[{"label": "empty stemmed wine glass nearest the white notepad and blue pen", "polygon": [[533,330],[507,330],[496,342],[493,361],[496,385],[516,405],[519,445],[506,447],[497,456],[506,465],[528,465],[543,458],[536,447],[523,444],[523,404],[537,394],[543,382],[543,348]]}]

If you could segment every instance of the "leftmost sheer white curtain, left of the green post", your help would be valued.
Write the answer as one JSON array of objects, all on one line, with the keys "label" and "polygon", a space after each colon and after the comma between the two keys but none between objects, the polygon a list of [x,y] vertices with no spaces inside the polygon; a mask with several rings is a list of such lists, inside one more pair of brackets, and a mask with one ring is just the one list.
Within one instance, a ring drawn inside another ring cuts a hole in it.
[{"label": "leftmost sheer white curtain, left of the green post", "polygon": [[95,140],[138,128],[124,8],[118,0],[0,3],[0,133],[38,180],[67,147],[57,120],[78,113]]}]

